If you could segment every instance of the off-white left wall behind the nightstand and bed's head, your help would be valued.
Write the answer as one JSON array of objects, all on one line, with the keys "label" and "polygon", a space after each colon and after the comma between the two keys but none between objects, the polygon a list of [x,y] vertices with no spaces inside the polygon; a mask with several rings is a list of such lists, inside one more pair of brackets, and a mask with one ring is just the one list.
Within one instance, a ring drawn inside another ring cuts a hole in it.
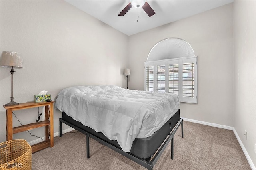
[{"label": "off-white left wall behind the nightstand and bed's head", "polygon": [[[128,36],[78,10],[65,1],[0,1],[1,53],[22,54],[24,68],[14,73],[14,101],[34,100],[46,90],[58,92],[73,85],[126,84]],[[1,68],[1,141],[5,141],[5,110],[10,101],[11,75]],[[42,109],[41,109],[42,111]],[[38,109],[15,111],[23,124],[36,121]],[[54,132],[58,132],[60,111],[54,110]],[[19,126],[13,117],[13,125]],[[65,126],[64,128],[67,128]],[[31,131],[44,136],[44,129]],[[37,138],[28,132],[14,134],[28,142]]]}]

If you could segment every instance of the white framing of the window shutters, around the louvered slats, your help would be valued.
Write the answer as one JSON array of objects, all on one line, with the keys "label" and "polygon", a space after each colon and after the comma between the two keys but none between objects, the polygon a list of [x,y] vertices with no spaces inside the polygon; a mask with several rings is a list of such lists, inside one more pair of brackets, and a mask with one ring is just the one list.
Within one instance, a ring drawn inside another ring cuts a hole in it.
[{"label": "white framing of the window shutters, around the louvered slats", "polygon": [[[178,64],[178,94],[180,102],[197,103],[198,96],[198,56],[164,59],[144,62],[144,90],[146,90],[146,67],[153,66],[153,91],[157,91],[157,66],[165,65],[165,92],[169,92],[169,65]],[[194,97],[183,96],[183,64],[194,63]],[[167,69],[166,69],[167,68]],[[167,78],[166,78],[167,77]],[[149,90],[148,90],[149,91]]]}]

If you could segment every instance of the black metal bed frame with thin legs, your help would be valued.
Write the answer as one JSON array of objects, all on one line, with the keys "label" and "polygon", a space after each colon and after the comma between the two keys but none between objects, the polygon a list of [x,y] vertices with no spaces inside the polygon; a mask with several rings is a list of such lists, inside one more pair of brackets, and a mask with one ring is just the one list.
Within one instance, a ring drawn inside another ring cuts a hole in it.
[{"label": "black metal bed frame with thin legs", "polygon": [[87,158],[90,158],[90,150],[89,150],[89,138],[93,138],[94,140],[100,142],[101,144],[111,148],[112,150],[122,154],[123,156],[129,158],[130,160],[133,160],[134,162],[140,164],[141,166],[144,166],[148,170],[152,170],[154,165],[156,164],[157,160],[160,158],[161,154],[164,152],[164,149],[167,147],[169,142],[171,141],[171,159],[173,159],[173,139],[174,139],[174,134],[178,130],[178,128],[181,125],[181,136],[183,138],[183,118],[180,118],[176,126],[173,128],[173,130],[170,132],[169,136],[166,138],[166,140],[162,143],[160,148],[157,150],[157,152],[154,154],[153,158],[150,161],[146,161],[142,158],[139,158],[131,153],[124,152],[122,149],[116,147],[115,145],[106,142],[100,138],[98,138],[95,135],[90,134],[89,132],[85,131],[84,129],[77,127],[76,125],[73,125],[62,118],[60,118],[60,137],[62,136],[62,123],[65,123],[66,125],[82,132],[83,134],[86,135],[86,152],[87,152]]}]

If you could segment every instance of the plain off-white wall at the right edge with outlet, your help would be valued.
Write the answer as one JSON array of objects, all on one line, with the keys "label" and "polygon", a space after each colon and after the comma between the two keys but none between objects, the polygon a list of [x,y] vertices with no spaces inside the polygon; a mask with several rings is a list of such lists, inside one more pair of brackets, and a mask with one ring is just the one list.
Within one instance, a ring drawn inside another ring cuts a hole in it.
[{"label": "plain off-white wall at the right edge with outlet", "polygon": [[[234,2],[234,128],[256,166],[256,1]],[[244,136],[247,131],[247,140]]]}]

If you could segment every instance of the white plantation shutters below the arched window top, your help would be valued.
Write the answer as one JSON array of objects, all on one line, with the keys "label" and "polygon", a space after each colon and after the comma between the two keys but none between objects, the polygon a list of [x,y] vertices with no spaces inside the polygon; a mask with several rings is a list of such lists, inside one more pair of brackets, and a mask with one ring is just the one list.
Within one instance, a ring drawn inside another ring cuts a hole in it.
[{"label": "white plantation shutters below the arched window top", "polygon": [[181,102],[197,103],[197,56],[144,63],[144,89],[179,95]]}]

